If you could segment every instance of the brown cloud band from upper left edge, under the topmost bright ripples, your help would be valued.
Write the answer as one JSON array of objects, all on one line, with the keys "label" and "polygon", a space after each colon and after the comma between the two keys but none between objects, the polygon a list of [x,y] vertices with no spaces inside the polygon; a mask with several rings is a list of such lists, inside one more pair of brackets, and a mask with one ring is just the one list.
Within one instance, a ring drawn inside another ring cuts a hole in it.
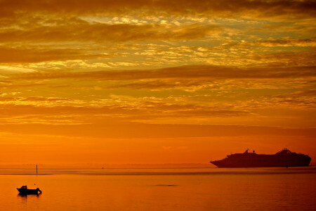
[{"label": "brown cloud band from upper left edge, under the topmost bright ripples", "polygon": [[[2,42],[55,42],[55,41],[176,41],[199,39],[220,31],[218,25],[162,25],[100,24],[52,25],[27,29],[1,30]],[[50,53],[49,51],[46,53]],[[53,53],[53,52],[51,52]],[[67,52],[66,52],[67,53]],[[57,56],[57,55],[56,55]]]}]

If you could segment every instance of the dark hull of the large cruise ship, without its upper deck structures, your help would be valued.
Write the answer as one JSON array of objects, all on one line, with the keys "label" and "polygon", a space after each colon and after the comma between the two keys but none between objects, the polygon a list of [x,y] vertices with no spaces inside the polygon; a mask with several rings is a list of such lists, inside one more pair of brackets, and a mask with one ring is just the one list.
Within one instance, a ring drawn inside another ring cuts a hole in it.
[{"label": "dark hull of the large cruise ship, without its upper deck structures", "polygon": [[303,167],[310,165],[308,155],[251,155],[246,158],[225,158],[211,161],[217,167]]}]

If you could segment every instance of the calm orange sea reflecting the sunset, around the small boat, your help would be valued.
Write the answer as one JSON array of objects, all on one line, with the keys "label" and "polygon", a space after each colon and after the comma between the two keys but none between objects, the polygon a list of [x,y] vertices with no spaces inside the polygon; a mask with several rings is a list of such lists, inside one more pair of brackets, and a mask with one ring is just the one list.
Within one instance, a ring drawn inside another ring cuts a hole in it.
[{"label": "calm orange sea reflecting the sunset, around the small boat", "polygon": [[0,169],[0,210],[316,210],[316,167],[39,173]]}]

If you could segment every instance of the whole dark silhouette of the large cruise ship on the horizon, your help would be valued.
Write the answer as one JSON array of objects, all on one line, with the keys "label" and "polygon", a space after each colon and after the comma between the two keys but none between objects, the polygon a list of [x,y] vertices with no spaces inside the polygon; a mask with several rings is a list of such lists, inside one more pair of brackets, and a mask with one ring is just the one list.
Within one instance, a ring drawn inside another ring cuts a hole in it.
[{"label": "whole dark silhouette of the large cruise ship on the horizon", "polygon": [[227,155],[223,160],[211,161],[217,167],[300,167],[310,165],[310,156],[292,153],[287,148],[275,155],[257,154],[255,151]]}]

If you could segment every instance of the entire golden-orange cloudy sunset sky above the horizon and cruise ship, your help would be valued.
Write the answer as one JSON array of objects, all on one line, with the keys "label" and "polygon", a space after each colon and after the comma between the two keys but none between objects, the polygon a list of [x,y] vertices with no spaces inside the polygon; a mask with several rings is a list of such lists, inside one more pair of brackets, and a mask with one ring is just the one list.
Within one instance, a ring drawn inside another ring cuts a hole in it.
[{"label": "entire golden-orange cloudy sunset sky above the horizon and cruise ship", "polygon": [[0,166],[316,159],[316,3],[0,0]]}]

